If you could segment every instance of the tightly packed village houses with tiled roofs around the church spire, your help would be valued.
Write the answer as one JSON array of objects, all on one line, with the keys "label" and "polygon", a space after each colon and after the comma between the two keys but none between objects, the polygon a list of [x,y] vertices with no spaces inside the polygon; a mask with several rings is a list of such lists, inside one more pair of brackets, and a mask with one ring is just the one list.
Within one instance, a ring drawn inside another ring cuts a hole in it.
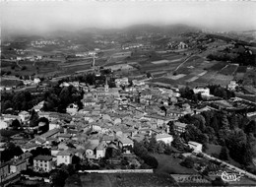
[{"label": "tightly packed village houses with tiled roofs around the church spire", "polygon": [[[127,86],[128,79],[118,79],[116,83]],[[105,157],[109,150],[131,154],[135,140],[140,142],[152,135],[156,136],[157,141],[171,144],[173,137],[168,134],[169,121],[173,121],[174,131],[181,134],[185,132],[187,124],[178,122],[179,117],[212,109],[210,106],[192,107],[180,98],[178,89],[152,88],[145,83],[138,82],[124,89],[109,88],[107,81],[98,88],[78,82],[63,83],[60,87],[70,85],[84,91],[81,100],[83,108],[79,109],[76,103],[71,103],[66,113],[57,113],[42,111],[44,101],[33,106],[39,117],[48,119],[49,130],[34,135],[28,141],[17,140],[26,155],[21,156],[24,157],[21,158],[24,165],[14,168],[12,164],[21,162],[16,158],[16,161],[1,163],[1,180],[8,178],[12,172],[26,169],[28,162],[24,160],[37,147],[49,148],[51,156],[33,157],[32,168],[37,172],[48,172],[62,163],[72,163],[74,156],[80,157],[80,160],[98,160]],[[194,93],[209,95],[210,91],[208,88],[195,88]],[[2,115],[1,128],[7,128],[15,119],[26,123],[30,117],[28,111],[21,111],[17,116]],[[17,135],[12,138],[16,140]],[[188,146],[194,152],[202,152],[199,143],[189,142]]]}]

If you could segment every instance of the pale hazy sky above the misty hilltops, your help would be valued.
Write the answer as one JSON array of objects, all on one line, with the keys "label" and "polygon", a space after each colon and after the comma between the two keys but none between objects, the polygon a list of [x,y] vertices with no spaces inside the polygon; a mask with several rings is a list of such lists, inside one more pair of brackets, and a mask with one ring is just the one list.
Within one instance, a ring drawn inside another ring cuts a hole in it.
[{"label": "pale hazy sky above the misty hilltops", "polygon": [[3,29],[49,31],[85,27],[121,28],[141,23],[185,23],[219,31],[256,29],[256,2],[28,1],[1,4]]}]

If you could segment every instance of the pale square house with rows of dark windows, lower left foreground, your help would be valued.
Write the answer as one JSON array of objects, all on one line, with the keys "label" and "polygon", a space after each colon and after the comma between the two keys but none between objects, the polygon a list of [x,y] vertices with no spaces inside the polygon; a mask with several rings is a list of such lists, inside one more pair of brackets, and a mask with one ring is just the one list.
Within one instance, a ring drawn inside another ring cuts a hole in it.
[{"label": "pale square house with rows of dark windows, lower left foreground", "polygon": [[52,156],[35,156],[33,170],[36,172],[49,172],[52,169]]}]

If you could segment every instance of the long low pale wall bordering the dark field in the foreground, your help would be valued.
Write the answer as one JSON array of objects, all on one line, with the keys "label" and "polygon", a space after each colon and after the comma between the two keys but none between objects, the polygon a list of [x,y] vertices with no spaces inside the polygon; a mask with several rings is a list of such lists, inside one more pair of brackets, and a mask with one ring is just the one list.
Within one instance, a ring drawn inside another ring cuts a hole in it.
[{"label": "long low pale wall bordering the dark field in the foreground", "polygon": [[153,169],[105,169],[105,170],[80,170],[80,173],[153,173]]}]

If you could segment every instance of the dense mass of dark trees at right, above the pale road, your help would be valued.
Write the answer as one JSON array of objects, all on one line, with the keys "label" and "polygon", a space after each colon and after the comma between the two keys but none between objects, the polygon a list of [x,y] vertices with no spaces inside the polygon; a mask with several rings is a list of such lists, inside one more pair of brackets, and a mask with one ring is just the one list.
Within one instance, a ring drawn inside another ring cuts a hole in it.
[{"label": "dense mass of dark trees at right, above the pale road", "polygon": [[[240,164],[247,166],[255,156],[256,122],[248,117],[224,111],[204,111],[201,114],[185,115],[179,119],[188,124],[186,131],[180,135],[185,141],[195,141],[221,145],[223,157],[228,151],[229,156]],[[170,124],[170,134],[175,134]]]}]

